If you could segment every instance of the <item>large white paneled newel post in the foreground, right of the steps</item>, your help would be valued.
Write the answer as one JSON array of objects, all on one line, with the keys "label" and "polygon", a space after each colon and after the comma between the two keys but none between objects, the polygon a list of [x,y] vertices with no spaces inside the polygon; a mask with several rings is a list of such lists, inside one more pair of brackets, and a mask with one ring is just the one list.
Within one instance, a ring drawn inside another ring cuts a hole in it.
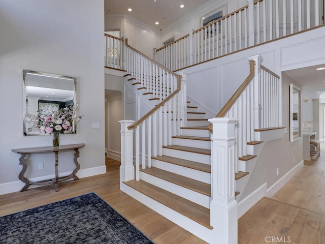
[{"label": "large white paneled newel post in the foreground, right of the steps", "polygon": [[238,239],[238,206],[235,199],[236,118],[211,118],[210,223],[218,243],[235,244]]}]

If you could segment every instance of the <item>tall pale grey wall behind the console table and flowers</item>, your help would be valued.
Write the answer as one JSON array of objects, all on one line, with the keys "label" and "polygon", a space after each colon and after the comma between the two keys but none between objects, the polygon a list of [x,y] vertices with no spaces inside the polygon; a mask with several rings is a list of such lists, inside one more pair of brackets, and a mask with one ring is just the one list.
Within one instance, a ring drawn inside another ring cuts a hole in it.
[{"label": "tall pale grey wall behind the console table and flowers", "polygon": [[[50,136],[23,136],[22,70],[77,78],[77,134],[61,143],[80,148],[77,175],[105,173],[104,154],[104,1],[0,0],[0,194],[19,191],[19,156],[12,148],[50,146]],[[99,123],[100,129],[92,129]],[[73,152],[59,154],[59,171],[74,169]],[[38,170],[38,163],[44,170]],[[54,155],[32,155],[28,178],[54,174]]]}]

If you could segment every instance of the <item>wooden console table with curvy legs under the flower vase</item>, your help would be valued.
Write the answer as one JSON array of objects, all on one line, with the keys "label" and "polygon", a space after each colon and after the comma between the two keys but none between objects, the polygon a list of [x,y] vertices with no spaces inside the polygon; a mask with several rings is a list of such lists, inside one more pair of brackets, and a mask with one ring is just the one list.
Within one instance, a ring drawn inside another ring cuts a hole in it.
[{"label": "wooden console table with curvy legs under the flower vase", "polygon": [[[19,179],[25,183],[25,186],[20,190],[21,192],[27,191],[27,188],[30,185],[49,185],[49,184],[54,184],[54,189],[57,192],[58,191],[58,182],[64,181],[70,178],[74,178],[75,180],[79,179],[76,173],[80,169],[80,165],[77,161],[77,158],[79,157],[79,147],[84,146],[85,144],[80,143],[80,144],[69,144],[69,145],[60,145],[59,147],[52,147],[52,146],[42,146],[42,147],[30,147],[30,148],[18,148],[18,149],[12,149],[14,153],[18,153],[21,155],[19,159],[19,164],[22,165],[22,170],[19,173]],[[68,175],[68,176],[61,176],[59,177],[58,175],[58,153],[59,151],[67,151],[67,150],[75,150],[75,157],[74,157],[74,163],[76,165],[76,168],[74,171]],[[49,179],[49,180],[42,180],[42,181],[30,181],[27,179],[24,174],[27,170],[27,159],[25,159],[26,155],[29,154],[42,154],[42,153],[54,153],[55,154],[55,178],[54,179]]]}]

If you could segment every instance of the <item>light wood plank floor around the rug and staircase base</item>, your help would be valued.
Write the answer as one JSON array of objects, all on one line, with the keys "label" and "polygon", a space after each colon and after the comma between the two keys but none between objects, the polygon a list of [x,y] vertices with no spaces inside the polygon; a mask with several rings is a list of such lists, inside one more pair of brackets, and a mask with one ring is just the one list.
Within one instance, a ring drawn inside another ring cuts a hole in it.
[{"label": "light wood plank floor around the rug and staircase base", "polygon": [[[322,147],[317,161],[305,161],[272,199],[263,198],[239,219],[238,243],[325,243],[325,144]],[[119,165],[107,159],[106,174],[61,182],[58,192],[45,186],[0,195],[0,216],[94,192],[157,244],[206,243],[121,192]]]}]

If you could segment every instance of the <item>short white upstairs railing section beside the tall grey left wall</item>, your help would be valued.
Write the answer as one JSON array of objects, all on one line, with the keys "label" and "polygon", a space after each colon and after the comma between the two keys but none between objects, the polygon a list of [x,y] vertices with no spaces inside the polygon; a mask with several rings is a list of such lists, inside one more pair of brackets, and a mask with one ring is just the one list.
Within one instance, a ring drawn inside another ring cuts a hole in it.
[{"label": "short white upstairs railing section beside the tall grey left wall", "polygon": [[122,69],[122,57],[123,57],[123,39],[105,35],[106,53],[105,53],[105,67]]}]

